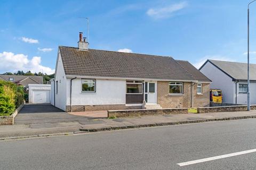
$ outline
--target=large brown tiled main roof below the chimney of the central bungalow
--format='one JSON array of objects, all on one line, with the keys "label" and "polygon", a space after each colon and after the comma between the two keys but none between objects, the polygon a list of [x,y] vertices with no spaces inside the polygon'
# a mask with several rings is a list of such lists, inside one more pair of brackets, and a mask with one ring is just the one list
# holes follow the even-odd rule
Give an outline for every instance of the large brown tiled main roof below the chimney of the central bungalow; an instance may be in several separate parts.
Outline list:
[{"label": "large brown tiled main roof below the chimney of the central bungalow", "polygon": [[60,46],[66,75],[193,81],[172,57]]}]

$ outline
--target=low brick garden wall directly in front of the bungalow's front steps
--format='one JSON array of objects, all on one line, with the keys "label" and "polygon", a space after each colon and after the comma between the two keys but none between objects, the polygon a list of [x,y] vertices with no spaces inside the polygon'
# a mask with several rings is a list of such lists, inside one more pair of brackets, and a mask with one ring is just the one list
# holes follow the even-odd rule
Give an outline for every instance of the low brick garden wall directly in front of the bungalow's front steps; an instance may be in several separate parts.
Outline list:
[{"label": "low brick garden wall directly in front of the bungalow's front steps", "polygon": [[188,108],[167,108],[167,109],[133,109],[123,111],[108,111],[108,117],[134,117],[143,115],[167,115],[167,114],[187,114]]}]

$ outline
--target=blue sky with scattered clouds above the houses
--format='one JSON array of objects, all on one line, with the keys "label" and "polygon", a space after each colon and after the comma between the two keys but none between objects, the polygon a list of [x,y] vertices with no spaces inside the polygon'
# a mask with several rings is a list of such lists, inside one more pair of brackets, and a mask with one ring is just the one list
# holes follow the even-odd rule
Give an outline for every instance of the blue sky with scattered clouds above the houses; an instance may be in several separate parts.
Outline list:
[{"label": "blue sky with scattered clouds above the houses", "polygon": [[[247,1],[0,1],[0,73],[53,73],[59,45],[246,62]],[[251,62],[256,63],[256,3],[251,5]]]}]

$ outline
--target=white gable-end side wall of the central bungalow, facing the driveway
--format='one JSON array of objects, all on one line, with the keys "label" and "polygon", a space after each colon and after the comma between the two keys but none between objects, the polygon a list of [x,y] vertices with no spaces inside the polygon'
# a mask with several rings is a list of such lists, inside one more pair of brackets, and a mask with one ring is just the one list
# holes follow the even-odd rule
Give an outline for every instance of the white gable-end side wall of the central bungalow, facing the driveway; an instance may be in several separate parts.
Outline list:
[{"label": "white gable-end side wall of the central bungalow, facing the driveway", "polygon": [[[58,94],[56,93],[56,81],[58,81]],[[63,111],[66,111],[66,98],[67,98],[67,79],[65,76],[61,55],[59,54],[59,59],[57,63],[57,71],[55,74],[55,107],[58,107],[62,109]]]}]

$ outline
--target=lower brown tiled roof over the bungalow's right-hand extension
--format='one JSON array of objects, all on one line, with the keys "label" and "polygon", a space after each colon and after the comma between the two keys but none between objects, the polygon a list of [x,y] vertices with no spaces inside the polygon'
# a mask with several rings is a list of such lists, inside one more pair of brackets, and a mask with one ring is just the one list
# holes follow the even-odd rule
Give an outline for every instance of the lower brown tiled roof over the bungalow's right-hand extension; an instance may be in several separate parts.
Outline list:
[{"label": "lower brown tiled roof over the bungalow's right-hand extension", "polygon": [[202,81],[202,82],[211,81],[201,71],[197,70],[196,67],[190,64],[188,61],[183,61],[183,60],[176,60],[176,61],[183,67],[183,69],[185,69],[197,81]]}]

